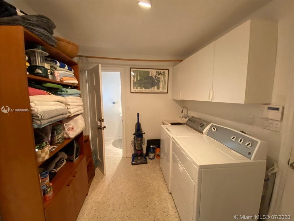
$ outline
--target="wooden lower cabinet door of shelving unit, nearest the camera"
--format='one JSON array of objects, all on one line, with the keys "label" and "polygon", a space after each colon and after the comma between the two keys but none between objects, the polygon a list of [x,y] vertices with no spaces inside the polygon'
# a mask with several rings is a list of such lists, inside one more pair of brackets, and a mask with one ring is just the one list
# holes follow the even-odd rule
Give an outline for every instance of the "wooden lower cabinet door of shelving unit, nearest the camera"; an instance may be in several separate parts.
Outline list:
[{"label": "wooden lower cabinet door of shelving unit, nearest the camera", "polygon": [[74,210],[74,188],[72,178],[67,181],[67,184],[54,196],[50,204],[46,207],[45,217],[46,221],[73,221],[77,219],[77,213]]}]

